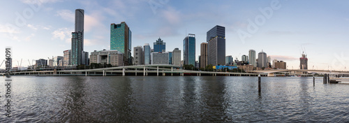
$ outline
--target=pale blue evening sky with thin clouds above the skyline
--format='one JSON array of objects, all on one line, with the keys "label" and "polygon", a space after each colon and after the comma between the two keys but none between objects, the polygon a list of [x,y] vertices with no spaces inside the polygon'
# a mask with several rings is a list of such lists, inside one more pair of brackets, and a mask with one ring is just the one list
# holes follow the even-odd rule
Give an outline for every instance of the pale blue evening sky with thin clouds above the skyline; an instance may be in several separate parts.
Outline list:
[{"label": "pale blue evening sky with thin clouds above the skyline", "polygon": [[[126,22],[132,48],[160,37],[166,51],[195,34],[200,43],[212,27],[225,27],[226,55],[241,60],[248,50],[299,68],[306,53],[309,69],[346,71],[349,67],[349,1],[265,0],[13,0],[1,1],[0,44],[13,50],[13,66],[63,56],[71,48],[75,9],[84,9],[84,51],[110,49],[110,24]],[[131,51],[133,52],[133,51]],[[258,56],[257,56],[258,57]],[[4,68],[4,65],[1,66]]]}]

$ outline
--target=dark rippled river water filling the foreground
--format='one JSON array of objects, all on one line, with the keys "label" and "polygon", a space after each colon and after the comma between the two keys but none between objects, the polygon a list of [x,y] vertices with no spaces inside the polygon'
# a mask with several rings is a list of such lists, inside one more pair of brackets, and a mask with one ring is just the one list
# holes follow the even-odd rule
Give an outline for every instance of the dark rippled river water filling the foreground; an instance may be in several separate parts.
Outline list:
[{"label": "dark rippled river water filling the foreground", "polygon": [[257,77],[13,77],[13,117],[0,109],[0,122],[349,122],[348,87],[262,78],[258,93]]}]

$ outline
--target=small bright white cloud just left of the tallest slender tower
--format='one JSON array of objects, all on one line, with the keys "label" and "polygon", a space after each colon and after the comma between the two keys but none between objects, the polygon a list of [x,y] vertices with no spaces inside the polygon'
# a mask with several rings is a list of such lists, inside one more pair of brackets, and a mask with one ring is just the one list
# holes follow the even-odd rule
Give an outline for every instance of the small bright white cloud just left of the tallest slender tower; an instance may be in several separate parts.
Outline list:
[{"label": "small bright white cloud just left of the tallest slender tower", "polygon": [[52,32],[52,39],[59,38],[61,41],[66,41],[66,43],[70,43],[71,40],[71,32],[73,29],[61,28]]}]

